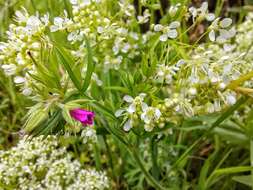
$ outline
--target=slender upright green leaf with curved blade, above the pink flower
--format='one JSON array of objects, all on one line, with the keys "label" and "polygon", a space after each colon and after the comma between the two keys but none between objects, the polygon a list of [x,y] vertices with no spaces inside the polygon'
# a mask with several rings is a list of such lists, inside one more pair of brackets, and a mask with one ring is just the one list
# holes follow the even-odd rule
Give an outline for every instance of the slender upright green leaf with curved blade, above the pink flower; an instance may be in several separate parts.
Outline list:
[{"label": "slender upright green leaf with curved blade, above the pink flower", "polygon": [[90,42],[86,37],[84,37],[84,39],[85,39],[85,43],[86,43],[86,47],[87,47],[87,62],[88,62],[88,64],[87,64],[84,83],[82,86],[82,92],[85,92],[87,90],[87,88],[89,87],[92,73],[94,72],[94,69],[95,69],[95,64],[93,63],[93,58],[92,58],[92,50],[90,47]]}]

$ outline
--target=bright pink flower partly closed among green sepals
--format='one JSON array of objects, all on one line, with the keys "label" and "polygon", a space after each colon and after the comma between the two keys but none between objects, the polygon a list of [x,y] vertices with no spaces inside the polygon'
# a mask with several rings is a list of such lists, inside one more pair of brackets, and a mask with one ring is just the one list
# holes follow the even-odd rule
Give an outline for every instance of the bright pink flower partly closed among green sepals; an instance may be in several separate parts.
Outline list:
[{"label": "bright pink flower partly closed among green sepals", "polygon": [[74,109],[70,111],[70,115],[80,121],[83,125],[92,125],[95,117],[95,113],[83,109]]}]

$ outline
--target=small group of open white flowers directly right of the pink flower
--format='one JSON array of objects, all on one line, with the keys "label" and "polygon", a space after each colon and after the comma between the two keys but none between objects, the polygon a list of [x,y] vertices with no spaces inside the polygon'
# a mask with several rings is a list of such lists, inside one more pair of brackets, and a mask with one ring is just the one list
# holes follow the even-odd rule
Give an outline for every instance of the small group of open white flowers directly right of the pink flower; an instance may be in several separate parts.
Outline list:
[{"label": "small group of open white flowers directly right of the pink flower", "polygon": [[152,131],[155,126],[164,127],[164,118],[161,117],[161,111],[157,107],[148,106],[144,102],[145,96],[145,93],[141,93],[135,98],[129,95],[124,96],[123,99],[129,106],[117,110],[115,116],[124,116],[125,124],[123,129],[125,131],[129,131],[132,127],[137,126],[139,121],[144,123],[146,131]]}]

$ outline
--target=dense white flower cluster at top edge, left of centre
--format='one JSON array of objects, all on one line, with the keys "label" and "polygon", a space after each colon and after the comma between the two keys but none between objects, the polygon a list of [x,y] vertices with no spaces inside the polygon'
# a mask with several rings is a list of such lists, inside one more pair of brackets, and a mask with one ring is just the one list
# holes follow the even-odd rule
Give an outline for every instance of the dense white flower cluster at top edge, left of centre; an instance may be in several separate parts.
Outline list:
[{"label": "dense white flower cluster at top edge, left of centre", "polygon": [[[73,55],[85,56],[85,36],[91,41],[93,51],[97,51],[100,55],[94,59],[104,63],[106,70],[110,68],[119,69],[124,58],[132,59],[139,55],[138,43],[141,35],[130,31],[121,18],[110,18],[104,12],[103,1],[70,2],[73,8],[73,19],[68,18],[65,13],[63,18],[54,18],[54,24],[50,26],[50,29],[51,32],[67,30],[68,41],[80,43],[79,48],[72,51]],[[119,5],[122,6],[121,3]],[[122,7],[121,11],[126,12],[124,9]],[[129,13],[129,16],[132,14]],[[138,17],[138,21],[145,23],[148,18],[149,12],[147,10],[143,16]]]}]

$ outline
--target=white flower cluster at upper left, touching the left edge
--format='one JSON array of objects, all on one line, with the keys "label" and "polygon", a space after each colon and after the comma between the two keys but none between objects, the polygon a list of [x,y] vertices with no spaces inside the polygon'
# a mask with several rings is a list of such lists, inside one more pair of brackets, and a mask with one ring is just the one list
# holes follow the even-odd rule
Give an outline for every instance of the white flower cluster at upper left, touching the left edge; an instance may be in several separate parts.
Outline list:
[{"label": "white flower cluster at upper left, touching the left edge", "polygon": [[39,59],[41,46],[48,41],[44,31],[49,24],[49,16],[29,16],[24,8],[16,11],[15,15],[17,24],[9,26],[7,42],[0,42],[1,67],[6,75],[15,75],[14,82],[23,85],[24,95],[30,95],[27,71],[35,72],[33,61]]}]

